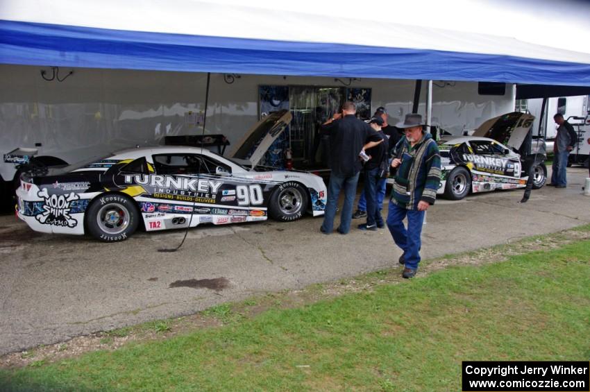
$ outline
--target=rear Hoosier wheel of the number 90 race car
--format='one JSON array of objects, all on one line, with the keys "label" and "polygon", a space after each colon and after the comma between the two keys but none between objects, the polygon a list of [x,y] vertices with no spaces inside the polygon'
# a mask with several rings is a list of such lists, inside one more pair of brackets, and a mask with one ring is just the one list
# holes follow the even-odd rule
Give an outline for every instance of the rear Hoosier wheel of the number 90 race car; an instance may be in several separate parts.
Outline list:
[{"label": "rear Hoosier wheel of the number 90 race car", "polygon": [[127,196],[103,194],[92,201],[84,219],[92,237],[117,242],[128,239],[137,230],[140,212],[135,201]]}]

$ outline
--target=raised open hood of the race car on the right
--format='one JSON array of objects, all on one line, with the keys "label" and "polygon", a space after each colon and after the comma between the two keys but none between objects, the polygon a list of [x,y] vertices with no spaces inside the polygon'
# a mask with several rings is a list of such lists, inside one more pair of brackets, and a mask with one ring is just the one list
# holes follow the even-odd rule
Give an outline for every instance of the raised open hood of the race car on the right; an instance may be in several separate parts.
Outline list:
[{"label": "raised open hood of the race car on the right", "polygon": [[532,126],[534,116],[521,112],[502,114],[482,123],[473,136],[489,137],[518,150]]}]

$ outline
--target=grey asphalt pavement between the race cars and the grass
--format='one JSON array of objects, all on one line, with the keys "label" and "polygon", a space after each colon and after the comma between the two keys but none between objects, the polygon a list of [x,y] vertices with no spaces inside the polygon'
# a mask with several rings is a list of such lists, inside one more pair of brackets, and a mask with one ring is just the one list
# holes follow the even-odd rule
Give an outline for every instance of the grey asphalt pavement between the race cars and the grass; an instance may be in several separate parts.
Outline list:
[{"label": "grey asphalt pavement between the race cars and the grass", "polygon": [[[439,200],[426,216],[423,258],[590,223],[587,176],[587,169],[568,168],[566,189],[543,187],[524,204],[521,189]],[[203,226],[168,253],[160,250],[178,246],[184,230],[103,244],[33,232],[12,214],[0,216],[0,355],[398,267],[401,251],[387,229],[357,230],[364,220],[355,219],[348,235],[322,235],[321,221]]]}]

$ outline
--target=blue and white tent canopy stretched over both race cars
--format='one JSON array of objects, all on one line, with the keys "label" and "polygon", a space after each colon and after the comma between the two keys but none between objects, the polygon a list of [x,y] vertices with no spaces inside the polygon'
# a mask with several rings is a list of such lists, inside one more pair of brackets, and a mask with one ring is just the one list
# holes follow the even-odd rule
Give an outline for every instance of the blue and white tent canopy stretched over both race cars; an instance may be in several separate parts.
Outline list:
[{"label": "blue and white tent canopy stretched over both race cars", "polygon": [[192,0],[2,0],[0,63],[590,86],[588,53]]}]

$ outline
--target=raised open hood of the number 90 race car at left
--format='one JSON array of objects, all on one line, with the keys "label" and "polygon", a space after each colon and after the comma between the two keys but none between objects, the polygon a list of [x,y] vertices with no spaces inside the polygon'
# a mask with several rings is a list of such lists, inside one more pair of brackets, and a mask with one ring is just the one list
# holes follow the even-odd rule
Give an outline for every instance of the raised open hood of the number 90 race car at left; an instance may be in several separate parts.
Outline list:
[{"label": "raised open hood of the number 90 race car at left", "polygon": [[292,115],[289,110],[272,112],[246,132],[242,140],[235,144],[236,148],[230,151],[229,156],[249,161],[254,169],[271,144],[291,123],[291,119]]}]

